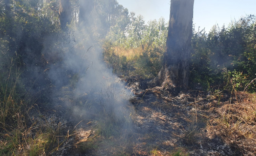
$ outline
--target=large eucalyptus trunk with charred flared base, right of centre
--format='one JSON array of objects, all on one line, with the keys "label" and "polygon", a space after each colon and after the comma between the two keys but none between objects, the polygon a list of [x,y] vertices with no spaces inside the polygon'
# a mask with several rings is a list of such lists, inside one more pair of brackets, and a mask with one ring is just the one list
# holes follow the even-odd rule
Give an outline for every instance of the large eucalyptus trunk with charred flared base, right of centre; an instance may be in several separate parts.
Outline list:
[{"label": "large eucalyptus trunk with charred flared base, right of centre", "polygon": [[171,0],[163,67],[153,80],[157,86],[186,89],[189,76],[194,0]]}]

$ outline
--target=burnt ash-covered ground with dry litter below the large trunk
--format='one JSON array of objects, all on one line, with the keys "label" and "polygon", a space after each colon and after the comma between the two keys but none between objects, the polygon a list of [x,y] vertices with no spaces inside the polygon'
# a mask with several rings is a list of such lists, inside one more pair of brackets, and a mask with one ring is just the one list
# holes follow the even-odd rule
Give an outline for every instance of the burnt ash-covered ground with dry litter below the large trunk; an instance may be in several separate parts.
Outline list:
[{"label": "burnt ash-covered ground with dry litter below the large trunk", "polygon": [[255,97],[244,94],[239,103],[240,92],[211,96],[214,93],[203,92],[200,85],[172,96],[163,88],[146,89],[139,77],[121,79],[135,94],[127,106],[134,110],[131,130],[100,135],[94,117],[76,120],[67,115],[67,108],[57,106],[43,112],[45,121],[58,130],[59,148],[50,155],[256,155]]}]

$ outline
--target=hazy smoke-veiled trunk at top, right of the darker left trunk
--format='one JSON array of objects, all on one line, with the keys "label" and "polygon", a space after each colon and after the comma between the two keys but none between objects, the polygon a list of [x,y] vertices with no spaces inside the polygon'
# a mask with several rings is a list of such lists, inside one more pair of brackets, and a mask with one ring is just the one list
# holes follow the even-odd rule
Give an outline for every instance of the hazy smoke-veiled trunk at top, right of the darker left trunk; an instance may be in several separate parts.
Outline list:
[{"label": "hazy smoke-veiled trunk at top, right of the darker left trunk", "polygon": [[93,25],[92,11],[94,3],[95,0],[79,0],[78,26],[80,28],[88,28]]}]

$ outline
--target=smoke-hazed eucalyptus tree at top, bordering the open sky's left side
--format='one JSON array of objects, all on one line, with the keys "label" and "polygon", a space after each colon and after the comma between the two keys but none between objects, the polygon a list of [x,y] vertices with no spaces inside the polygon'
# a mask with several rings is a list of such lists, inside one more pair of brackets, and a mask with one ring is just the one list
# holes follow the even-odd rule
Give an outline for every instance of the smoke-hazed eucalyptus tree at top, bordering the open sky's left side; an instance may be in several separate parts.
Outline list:
[{"label": "smoke-hazed eucalyptus tree at top, bordering the open sky's left side", "polygon": [[79,6],[79,27],[100,38],[106,36],[120,17],[128,18],[129,13],[117,0],[79,0]]}]

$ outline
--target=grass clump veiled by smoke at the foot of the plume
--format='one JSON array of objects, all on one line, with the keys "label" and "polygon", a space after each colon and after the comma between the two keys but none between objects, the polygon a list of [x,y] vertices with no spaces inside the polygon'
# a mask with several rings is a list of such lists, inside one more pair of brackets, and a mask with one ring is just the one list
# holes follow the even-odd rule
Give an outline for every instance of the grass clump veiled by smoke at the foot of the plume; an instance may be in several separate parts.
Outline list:
[{"label": "grass clump veiled by smoke at the foot of the plume", "polygon": [[100,118],[95,129],[97,133],[104,136],[127,135],[132,128],[131,113],[129,107],[129,93],[121,90],[119,84],[111,83],[104,85],[101,91],[100,99]]}]

